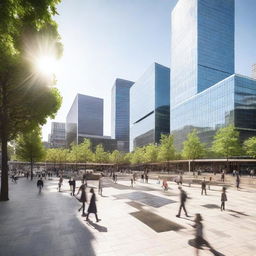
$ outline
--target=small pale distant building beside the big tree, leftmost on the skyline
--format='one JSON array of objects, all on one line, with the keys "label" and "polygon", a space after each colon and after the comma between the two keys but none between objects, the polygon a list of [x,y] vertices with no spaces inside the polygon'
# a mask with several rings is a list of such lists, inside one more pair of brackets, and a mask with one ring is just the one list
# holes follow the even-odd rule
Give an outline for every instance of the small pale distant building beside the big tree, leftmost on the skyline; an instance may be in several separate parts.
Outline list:
[{"label": "small pale distant building beside the big tree, leftmost on the skyline", "polygon": [[49,134],[48,142],[50,148],[62,148],[66,146],[65,123],[52,122],[51,134]]}]

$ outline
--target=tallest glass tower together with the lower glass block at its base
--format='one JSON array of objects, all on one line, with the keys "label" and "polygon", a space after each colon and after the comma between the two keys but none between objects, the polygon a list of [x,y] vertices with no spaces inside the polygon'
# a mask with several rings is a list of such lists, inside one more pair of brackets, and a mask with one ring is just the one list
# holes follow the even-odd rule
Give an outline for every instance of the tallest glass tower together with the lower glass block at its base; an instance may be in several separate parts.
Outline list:
[{"label": "tallest glass tower together with the lower glass block at its base", "polygon": [[172,12],[171,122],[179,149],[198,131],[210,145],[234,125],[256,135],[256,81],[234,74],[234,0],[179,0]]}]

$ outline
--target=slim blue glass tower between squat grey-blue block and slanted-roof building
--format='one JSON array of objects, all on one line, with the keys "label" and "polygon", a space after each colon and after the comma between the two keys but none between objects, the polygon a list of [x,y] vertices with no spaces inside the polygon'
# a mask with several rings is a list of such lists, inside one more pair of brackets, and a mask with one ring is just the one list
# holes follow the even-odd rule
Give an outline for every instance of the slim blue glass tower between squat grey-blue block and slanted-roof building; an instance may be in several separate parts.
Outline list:
[{"label": "slim blue glass tower between squat grey-blue block and slanted-roof building", "polygon": [[116,79],[111,91],[111,137],[120,151],[129,152],[130,88],[134,82]]}]

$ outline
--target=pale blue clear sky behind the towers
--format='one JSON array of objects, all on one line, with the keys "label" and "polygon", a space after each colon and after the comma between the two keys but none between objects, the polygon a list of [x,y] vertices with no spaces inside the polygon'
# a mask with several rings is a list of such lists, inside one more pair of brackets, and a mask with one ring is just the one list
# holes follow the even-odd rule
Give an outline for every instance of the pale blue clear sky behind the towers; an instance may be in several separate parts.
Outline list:
[{"label": "pale blue clear sky behind the towers", "polygon": [[[171,11],[177,0],[63,0],[58,6],[64,54],[57,73],[65,122],[77,93],[104,99],[104,134],[110,135],[114,80],[136,81],[153,62],[170,66]],[[256,0],[236,0],[236,73],[256,63]],[[50,133],[50,120],[43,138]]]}]

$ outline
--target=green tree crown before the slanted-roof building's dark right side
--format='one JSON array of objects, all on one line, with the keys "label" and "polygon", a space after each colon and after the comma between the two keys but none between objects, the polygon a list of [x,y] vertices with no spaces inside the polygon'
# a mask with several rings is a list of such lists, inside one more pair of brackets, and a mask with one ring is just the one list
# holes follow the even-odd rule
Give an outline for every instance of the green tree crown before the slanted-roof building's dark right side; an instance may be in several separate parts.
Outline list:
[{"label": "green tree crown before the slanted-roof building's dark right side", "polygon": [[161,135],[160,146],[158,147],[158,160],[170,161],[176,158],[173,145],[173,135]]}]

